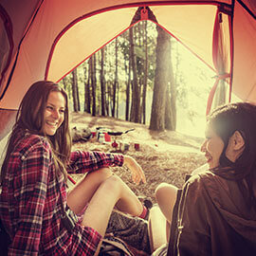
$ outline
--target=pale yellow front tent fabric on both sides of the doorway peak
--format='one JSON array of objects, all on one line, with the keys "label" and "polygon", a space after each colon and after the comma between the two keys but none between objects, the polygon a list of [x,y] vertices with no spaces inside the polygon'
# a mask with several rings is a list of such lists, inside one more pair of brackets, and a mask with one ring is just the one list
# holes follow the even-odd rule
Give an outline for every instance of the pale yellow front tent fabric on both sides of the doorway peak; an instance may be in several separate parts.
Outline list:
[{"label": "pale yellow front tent fabric on both sides of the doorway peak", "polygon": [[[92,52],[98,50],[101,46],[109,42],[115,36],[119,35],[124,29],[129,27],[131,18],[135,14],[137,8],[110,10],[82,20],[75,26],[68,29],[62,36],[54,48],[54,54],[51,58],[47,79],[59,81],[63,74],[66,74],[76,64],[84,61],[84,56],[89,56]],[[184,45],[188,46],[206,63],[213,68],[211,58],[212,43],[212,21],[214,21],[216,8],[203,6],[162,6],[151,7],[153,13],[156,14],[158,24],[171,31],[175,27],[174,36],[178,38]],[[202,23],[198,18],[198,13],[203,12],[203,18],[207,20]],[[168,15],[173,13],[173,15]],[[161,19],[165,17],[165,19]],[[166,20],[168,17],[168,20]],[[186,19],[185,19],[186,17]],[[102,24],[107,24],[99,30]],[[202,33],[201,31],[205,31]],[[79,35],[79,36],[78,36]],[[87,40],[90,35],[90,41]],[[91,41],[94,44],[91,44]],[[200,43],[199,43],[200,42]],[[76,46],[76,47],[69,47]],[[80,49],[79,51],[77,49]],[[75,56],[75,58],[74,58]],[[66,59],[73,59],[73,64],[66,65],[65,70],[60,68]]]}]

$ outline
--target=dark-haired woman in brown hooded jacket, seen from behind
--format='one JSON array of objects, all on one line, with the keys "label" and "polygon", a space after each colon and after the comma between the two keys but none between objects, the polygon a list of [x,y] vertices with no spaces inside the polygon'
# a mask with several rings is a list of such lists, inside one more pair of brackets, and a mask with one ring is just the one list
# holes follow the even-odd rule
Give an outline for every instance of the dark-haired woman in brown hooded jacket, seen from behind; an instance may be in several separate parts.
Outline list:
[{"label": "dark-haired woman in brown hooded jacket, seen from behind", "polygon": [[173,218],[168,255],[256,255],[256,105],[214,110],[201,151],[208,171],[180,192],[168,184],[155,190],[169,226]]}]

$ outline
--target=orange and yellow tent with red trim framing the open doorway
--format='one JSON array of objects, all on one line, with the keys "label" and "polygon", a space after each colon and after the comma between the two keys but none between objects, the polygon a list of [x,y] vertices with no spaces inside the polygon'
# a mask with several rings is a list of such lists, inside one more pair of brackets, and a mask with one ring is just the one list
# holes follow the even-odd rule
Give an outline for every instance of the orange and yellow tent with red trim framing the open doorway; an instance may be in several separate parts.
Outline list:
[{"label": "orange and yellow tent with red trim framing the open doorway", "polygon": [[221,80],[243,101],[256,101],[254,0],[1,0],[0,141],[32,82],[60,81],[152,13],[215,71],[209,108]]}]

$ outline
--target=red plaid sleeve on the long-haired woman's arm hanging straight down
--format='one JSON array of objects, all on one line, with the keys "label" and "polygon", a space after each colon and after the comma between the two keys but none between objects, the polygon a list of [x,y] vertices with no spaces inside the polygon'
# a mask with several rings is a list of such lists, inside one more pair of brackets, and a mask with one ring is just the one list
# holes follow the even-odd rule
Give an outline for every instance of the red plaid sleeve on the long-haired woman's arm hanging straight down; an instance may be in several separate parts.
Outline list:
[{"label": "red plaid sleeve on the long-haired woman's arm hanging straight down", "polygon": [[32,147],[21,156],[21,170],[14,177],[14,198],[19,214],[10,255],[38,255],[46,203],[50,150],[47,144]]}]

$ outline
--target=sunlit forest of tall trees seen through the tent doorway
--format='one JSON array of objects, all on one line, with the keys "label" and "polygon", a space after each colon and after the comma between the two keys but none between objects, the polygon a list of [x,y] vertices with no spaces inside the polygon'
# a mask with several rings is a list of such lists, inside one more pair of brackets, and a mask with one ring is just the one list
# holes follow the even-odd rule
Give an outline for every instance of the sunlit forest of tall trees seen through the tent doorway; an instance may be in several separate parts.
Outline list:
[{"label": "sunlit forest of tall trees seen through the tent doorway", "polygon": [[[143,123],[155,131],[176,131],[186,121],[196,127],[205,119],[214,72],[162,27],[140,21],[60,83],[74,112]],[[214,106],[226,102],[226,86],[218,87]]]}]

